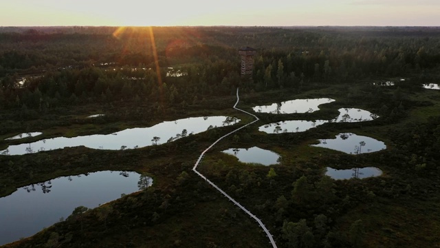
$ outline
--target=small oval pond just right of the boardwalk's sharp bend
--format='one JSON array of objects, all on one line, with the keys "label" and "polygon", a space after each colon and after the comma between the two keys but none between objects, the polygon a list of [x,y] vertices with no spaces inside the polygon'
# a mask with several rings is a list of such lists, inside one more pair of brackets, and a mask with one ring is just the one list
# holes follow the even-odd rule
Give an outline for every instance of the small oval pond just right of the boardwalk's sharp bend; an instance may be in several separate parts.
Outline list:
[{"label": "small oval pond just right of the boardwalk's sharp bend", "polygon": [[275,152],[259,147],[232,148],[223,152],[236,156],[243,163],[259,163],[261,165],[274,165],[278,163],[280,157]]}]

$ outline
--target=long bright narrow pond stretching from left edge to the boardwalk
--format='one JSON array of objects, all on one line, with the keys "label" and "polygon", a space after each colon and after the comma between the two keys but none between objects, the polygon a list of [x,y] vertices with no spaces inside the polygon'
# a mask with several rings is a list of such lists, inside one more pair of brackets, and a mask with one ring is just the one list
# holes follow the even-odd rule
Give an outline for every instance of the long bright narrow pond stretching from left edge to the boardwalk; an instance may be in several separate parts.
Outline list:
[{"label": "long bright narrow pond stretching from left edge to the boardwalk", "polygon": [[132,149],[175,141],[213,127],[233,125],[240,120],[228,116],[205,116],[164,121],[153,127],[136,127],[113,134],[94,134],[73,138],[47,138],[34,143],[10,145],[0,151],[3,155],[22,155],[64,147],[84,145],[93,149]]}]

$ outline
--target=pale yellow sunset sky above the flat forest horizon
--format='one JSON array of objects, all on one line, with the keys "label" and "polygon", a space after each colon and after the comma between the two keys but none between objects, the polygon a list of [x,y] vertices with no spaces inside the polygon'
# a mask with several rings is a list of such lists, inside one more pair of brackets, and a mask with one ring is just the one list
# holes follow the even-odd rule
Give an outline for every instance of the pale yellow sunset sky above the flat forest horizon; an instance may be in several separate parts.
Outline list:
[{"label": "pale yellow sunset sky above the flat forest horizon", "polygon": [[440,0],[0,0],[0,26],[440,26]]}]

